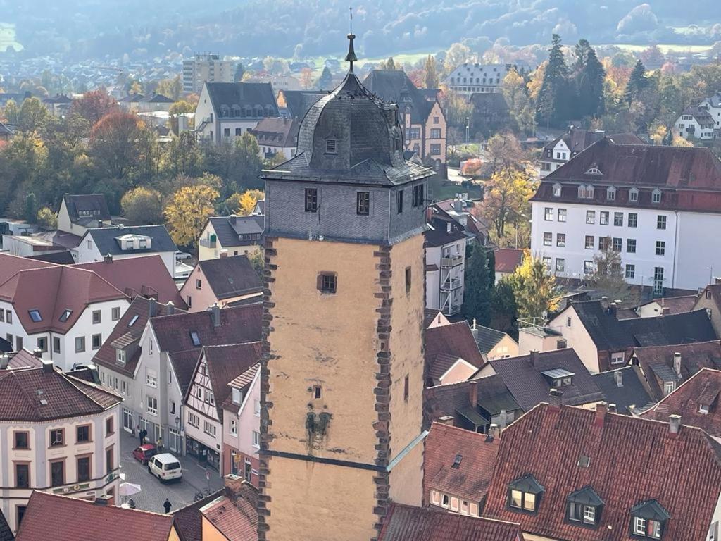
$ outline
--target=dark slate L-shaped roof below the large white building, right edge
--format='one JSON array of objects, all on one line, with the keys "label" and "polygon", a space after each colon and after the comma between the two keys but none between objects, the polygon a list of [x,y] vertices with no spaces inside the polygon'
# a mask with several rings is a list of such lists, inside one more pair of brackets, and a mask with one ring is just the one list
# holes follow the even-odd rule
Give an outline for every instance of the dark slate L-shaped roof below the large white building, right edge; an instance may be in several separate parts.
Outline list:
[{"label": "dark slate L-shaped roof below the large white building, right edge", "polygon": [[670,346],[717,339],[711,320],[703,309],[666,316],[619,320],[603,308],[601,301],[576,302],[572,307],[599,351]]}]

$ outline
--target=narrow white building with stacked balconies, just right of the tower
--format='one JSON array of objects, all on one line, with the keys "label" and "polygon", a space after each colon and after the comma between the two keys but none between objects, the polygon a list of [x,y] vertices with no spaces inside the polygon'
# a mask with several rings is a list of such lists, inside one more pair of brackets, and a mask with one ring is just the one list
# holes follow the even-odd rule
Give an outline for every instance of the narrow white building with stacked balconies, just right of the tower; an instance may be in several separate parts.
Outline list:
[{"label": "narrow white building with stacked balconies, just right of the tower", "polygon": [[454,315],[463,307],[466,228],[438,207],[428,209],[425,237],[425,307]]}]

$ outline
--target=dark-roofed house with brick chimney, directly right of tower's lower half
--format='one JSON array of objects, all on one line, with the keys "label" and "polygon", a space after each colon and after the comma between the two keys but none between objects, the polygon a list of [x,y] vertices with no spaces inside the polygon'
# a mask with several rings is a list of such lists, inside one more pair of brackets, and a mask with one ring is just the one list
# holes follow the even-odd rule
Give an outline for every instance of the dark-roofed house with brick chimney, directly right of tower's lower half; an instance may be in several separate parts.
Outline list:
[{"label": "dark-roofed house with brick chimney, directly right of tower's lower half", "polygon": [[498,375],[428,387],[423,392],[425,426],[433,421],[452,422],[464,430],[488,434],[492,424],[503,429],[522,414]]}]

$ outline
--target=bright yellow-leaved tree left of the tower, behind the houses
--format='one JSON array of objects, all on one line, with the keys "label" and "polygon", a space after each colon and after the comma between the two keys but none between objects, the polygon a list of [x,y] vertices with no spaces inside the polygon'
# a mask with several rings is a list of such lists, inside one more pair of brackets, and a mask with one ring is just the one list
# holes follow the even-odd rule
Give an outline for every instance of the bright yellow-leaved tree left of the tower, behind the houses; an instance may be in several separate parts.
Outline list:
[{"label": "bright yellow-leaved tree left of the tower, behind the houses", "polygon": [[195,245],[205,222],[213,216],[213,203],[219,195],[205,184],[185,186],[172,195],[163,214],[175,244]]}]

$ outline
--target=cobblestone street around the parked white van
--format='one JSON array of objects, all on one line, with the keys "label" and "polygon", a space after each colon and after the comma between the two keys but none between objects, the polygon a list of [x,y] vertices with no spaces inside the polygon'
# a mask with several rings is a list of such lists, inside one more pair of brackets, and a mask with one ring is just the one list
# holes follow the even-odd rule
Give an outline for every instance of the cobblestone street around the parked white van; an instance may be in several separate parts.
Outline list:
[{"label": "cobblestone street around the parked white van", "polygon": [[[133,449],[138,443],[138,438],[125,431],[120,433],[120,475],[124,475],[128,483],[141,485],[143,488],[140,493],[131,496],[137,509],[162,513],[163,502],[168,498],[172,505],[171,512],[177,511],[188,503],[193,503],[195,493],[203,491],[205,494],[208,487],[211,491],[216,491],[223,486],[218,472],[199,465],[193,457],[181,457],[177,454],[175,456],[182,465],[182,479],[161,483],[150,475],[146,466],[133,458]],[[206,472],[210,474],[209,480],[205,477]],[[125,499],[127,498],[121,497],[119,503],[123,503]]]}]

